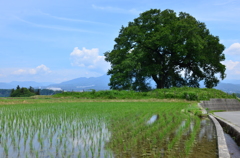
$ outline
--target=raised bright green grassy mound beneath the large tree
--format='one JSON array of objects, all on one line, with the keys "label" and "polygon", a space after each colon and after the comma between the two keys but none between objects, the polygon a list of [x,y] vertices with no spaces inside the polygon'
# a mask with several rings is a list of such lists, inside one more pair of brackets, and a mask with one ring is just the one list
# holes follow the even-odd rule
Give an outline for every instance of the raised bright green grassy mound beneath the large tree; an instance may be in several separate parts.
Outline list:
[{"label": "raised bright green grassy mound beneath the large tree", "polygon": [[53,97],[74,97],[83,99],[186,99],[189,101],[209,100],[210,98],[235,98],[217,89],[172,87],[168,89],[155,89],[149,92],[136,92],[125,90],[105,90],[90,92],[63,92]]}]

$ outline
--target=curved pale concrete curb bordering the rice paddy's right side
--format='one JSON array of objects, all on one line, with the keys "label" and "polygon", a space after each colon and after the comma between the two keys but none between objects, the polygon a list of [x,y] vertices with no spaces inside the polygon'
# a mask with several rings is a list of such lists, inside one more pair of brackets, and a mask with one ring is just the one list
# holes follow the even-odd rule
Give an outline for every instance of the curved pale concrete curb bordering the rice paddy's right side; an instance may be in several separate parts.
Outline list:
[{"label": "curved pale concrete curb bordering the rice paddy's right side", "polygon": [[222,129],[220,123],[214,118],[214,116],[208,115],[208,117],[213,121],[213,123],[216,127],[217,142],[218,142],[218,157],[219,158],[231,158],[229,151],[228,151],[225,136],[223,133],[223,129]]}]

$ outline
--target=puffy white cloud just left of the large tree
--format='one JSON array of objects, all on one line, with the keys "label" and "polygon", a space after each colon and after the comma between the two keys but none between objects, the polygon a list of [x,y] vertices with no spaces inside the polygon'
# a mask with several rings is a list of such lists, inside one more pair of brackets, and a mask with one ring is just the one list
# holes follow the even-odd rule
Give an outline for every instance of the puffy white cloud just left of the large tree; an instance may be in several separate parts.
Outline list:
[{"label": "puffy white cloud just left of the large tree", "polygon": [[83,47],[80,50],[78,47],[75,47],[70,54],[71,64],[73,66],[107,72],[110,64],[105,61],[104,56],[100,56],[98,53],[98,48],[86,49]]}]

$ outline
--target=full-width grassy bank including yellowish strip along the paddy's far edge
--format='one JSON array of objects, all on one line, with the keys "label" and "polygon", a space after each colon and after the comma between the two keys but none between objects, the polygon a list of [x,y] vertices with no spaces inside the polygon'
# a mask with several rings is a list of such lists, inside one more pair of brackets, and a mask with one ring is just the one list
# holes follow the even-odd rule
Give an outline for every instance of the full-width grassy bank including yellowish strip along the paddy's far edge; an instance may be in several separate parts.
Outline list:
[{"label": "full-width grassy bank including yellowish strip along the paddy's far edge", "polygon": [[149,92],[135,92],[135,91],[85,91],[85,92],[64,92],[52,96],[37,95],[32,97],[7,97],[0,98],[0,104],[15,104],[15,103],[39,103],[39,102],[101,102],[101,101],[200,101],[209,100],[210,98],[235,98],[234,94],[227,94],[217,89],[207,88],[169,88],[169,89],[155,89]]}]

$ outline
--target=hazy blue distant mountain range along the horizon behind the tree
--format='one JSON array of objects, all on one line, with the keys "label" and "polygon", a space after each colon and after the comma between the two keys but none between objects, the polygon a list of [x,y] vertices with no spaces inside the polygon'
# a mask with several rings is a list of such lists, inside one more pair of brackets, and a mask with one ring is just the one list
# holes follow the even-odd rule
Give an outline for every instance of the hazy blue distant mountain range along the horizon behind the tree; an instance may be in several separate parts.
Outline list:
[{"label": "hazy blue distant mountain range along the horizon behind the tree", "polygon": [[[80,77],[73,80],[65,81],[62,83],[54,84],[49,82],[33,82],[33,81],[25,81],[25,82],[17,82],[13,81],[10,83],[0,83],[0,89],[12,89],[16,88],[17,85],[20,87],[34,87],[41,89],[52,89],[52,90],[66,90],[66,91],[83,91],[83,90],[108,90],[110,87],[108,86],[110,76],[103,75],[100,77]],[[230,82],[230,83],[227,83]],[[155,83],[151,82],[153,88],[155,88]],[[201,83],[201,87],[203,87]],[[222,90],[227,93],[240,93],[240,80],[224,80],[220,82],[215,89]]]}]

